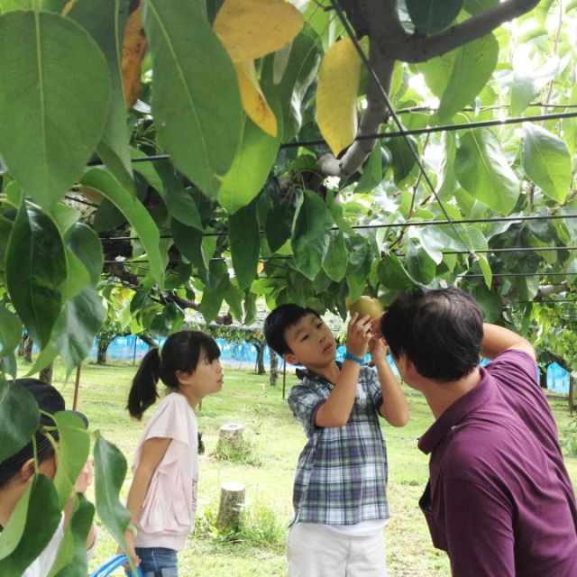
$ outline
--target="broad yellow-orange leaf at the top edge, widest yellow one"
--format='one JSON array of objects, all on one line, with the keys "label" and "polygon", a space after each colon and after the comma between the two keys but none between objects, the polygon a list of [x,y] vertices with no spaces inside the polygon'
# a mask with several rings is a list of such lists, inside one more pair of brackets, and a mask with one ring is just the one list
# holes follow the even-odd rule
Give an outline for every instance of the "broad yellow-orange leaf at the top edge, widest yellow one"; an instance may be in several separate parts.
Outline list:
[{"label": "broad yellow-orange leaf at the top edge, widest yellow one", "polygon": [[234,62],[275,52],[300,32],[303,15],[284,0],[224,0],[214,30]]}]

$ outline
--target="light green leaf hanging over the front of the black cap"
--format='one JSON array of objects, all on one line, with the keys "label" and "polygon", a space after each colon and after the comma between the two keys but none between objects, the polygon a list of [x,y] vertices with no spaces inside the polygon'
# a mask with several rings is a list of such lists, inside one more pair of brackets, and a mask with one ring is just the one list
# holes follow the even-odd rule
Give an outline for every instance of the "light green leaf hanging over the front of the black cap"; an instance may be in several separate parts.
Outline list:
[{"label": "light green leaf hanging over the front of the black cap", "polygon": [[58,492],[59,507],[69,502],[78,475],[87,462],[90,436],[84,421],[72,411],[59,411],[53,415],[59,432],[58,469],[54,487]]}]

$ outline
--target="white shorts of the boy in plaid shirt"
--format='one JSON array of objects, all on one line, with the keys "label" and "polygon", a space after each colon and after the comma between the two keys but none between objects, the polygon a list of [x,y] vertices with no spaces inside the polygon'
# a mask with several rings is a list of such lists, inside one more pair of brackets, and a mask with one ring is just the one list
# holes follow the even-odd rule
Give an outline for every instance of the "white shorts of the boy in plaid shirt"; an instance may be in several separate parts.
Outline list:
[{"label": "white shorts of the boy in plaid shirt", "polygon": [[287,544],[289,577],[385,577],[384,532],[347,536],[315,523],[295,523]]}]

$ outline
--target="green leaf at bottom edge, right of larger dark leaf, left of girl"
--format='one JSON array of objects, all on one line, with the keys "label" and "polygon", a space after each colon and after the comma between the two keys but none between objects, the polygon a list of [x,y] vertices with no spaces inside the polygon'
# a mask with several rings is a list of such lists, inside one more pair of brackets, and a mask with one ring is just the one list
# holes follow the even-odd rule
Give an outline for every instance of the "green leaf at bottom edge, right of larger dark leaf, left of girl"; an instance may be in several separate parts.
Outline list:
[{"label": "green leaf at bottom edge, right of larger dark leaf, left of girl", "polygon": [[94,505],[84,495],[78,494],[78,502],[56,561],[49,577],[84,577],[88,572],[87,537],[94,518]]}]

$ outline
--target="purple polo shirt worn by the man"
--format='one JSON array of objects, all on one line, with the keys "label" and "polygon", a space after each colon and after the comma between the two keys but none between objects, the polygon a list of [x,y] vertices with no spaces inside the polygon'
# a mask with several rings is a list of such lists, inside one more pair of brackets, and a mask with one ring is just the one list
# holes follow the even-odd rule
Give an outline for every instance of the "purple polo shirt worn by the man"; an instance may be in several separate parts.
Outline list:
[{"label": "purple polo shirt worn by the man", "polygon": [[419,501],[458,577],[577,576],[577,506],[535,361],[500,353],[418,443]]}]

